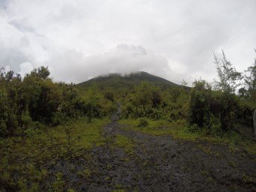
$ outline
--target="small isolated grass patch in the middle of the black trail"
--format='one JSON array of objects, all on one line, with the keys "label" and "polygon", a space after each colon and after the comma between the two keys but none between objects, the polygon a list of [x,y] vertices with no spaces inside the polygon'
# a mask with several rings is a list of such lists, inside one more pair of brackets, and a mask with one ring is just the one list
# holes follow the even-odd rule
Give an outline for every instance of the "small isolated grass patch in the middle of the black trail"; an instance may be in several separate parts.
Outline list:
[{"label": "small isolated grass patch in the middle of the black trail", "polygon": [[115,145],[124,148],[125,152],[128,154],[134,154],[134,141],[128,136],[121,134],[116,135]]}]

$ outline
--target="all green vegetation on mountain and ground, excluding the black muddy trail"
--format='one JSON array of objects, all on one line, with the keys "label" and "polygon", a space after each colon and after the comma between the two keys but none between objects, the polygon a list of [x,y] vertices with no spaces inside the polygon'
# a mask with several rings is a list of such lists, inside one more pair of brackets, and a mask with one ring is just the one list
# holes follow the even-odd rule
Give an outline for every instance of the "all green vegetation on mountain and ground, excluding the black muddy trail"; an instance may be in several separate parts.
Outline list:
[{"label": "all green vegetation on mountain and ground, excluding the black muddy trail", "polygon": [[[192,87],[186,83],[177,86],[146,73],[126,77],[114,74],[74,85],[54,82],[44,67],[24,78],[1,68],[1,187],[38,191],[48,181],[44,188],[49,191],[67,190],[63,172],[53,172],[50,167],[65,160],[89,160],[92,157],[88,151],[104,145],[106,139],[114,139],[115,147],[133,155],[136,141],[130,137],[101,136],[101,127],[110,122],[110,115],[117,109],[122,110],[118,112],[119,123],[128,125],[125,129],[190,142],[224,143],[230,151],[256,154],[254,137],[243,136],[238,130],[252,130],[256,63],[242,74],[223,52],[223,58],[215,57],[215,64],[218,80],[213,84],[195,80]],[[198,148],[211,153],[210,148]],[[86,179],[94,171],[85,166],[75,174]],[[207,172],[202,174],[212,179]],[[104,175],[104,179],[110,177]],[[250,182],[251,178],[244,175],[243,180]]]}]

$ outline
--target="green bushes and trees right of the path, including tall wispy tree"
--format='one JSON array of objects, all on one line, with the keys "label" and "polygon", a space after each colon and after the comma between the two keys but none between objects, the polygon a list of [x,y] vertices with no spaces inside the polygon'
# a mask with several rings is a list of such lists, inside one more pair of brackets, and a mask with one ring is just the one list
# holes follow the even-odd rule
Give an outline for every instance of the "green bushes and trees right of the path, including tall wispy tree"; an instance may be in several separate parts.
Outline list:
[{"label": "green bushes and trees right of the path, including tall wispy tree", "polygon": [[[185,120],[191,131],[221,136],[236,124],[253,127],[256,108],[256,59],[244,73],[236,71],[226,55],[214,55],[218,80],[195,80],[191,87],[161,90],[150,83],[128,95],[124,118]],[[143,121],[145,121],[143,119]]]}]

